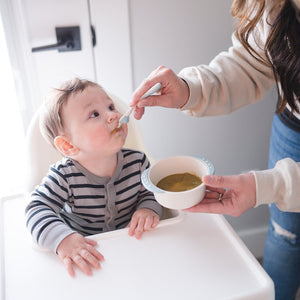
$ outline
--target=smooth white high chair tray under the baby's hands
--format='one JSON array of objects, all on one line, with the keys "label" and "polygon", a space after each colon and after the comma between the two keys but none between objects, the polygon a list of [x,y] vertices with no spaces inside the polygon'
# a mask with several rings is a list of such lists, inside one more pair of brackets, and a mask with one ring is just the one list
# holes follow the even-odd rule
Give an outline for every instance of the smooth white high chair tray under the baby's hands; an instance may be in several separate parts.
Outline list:
[{"label": "smooth white high chair tray under the baby's hands", "polygon": [[3,216],[6,300],[274,299],[273,282],[223,216],[175,211],[140,240],[127,229],[91,236],[105,261],[75,278],[55,254],[32,247],[24,199],[6,201]]}]

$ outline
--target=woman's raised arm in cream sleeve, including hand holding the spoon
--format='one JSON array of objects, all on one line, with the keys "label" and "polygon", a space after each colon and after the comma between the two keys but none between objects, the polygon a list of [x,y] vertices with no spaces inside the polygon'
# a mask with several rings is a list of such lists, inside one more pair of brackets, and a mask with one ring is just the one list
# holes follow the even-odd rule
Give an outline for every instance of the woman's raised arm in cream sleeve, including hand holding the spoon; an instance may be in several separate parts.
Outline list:
[{"label": "woman's raised arm in cream sleeve, including hand holding the spoon", "polygon": [[[268,32],[269,25],[264,20],[249,38],[262,58]],[[234,35],[232,43],[227,52],[217,55],[209,65],[185,68],[179,76],[163,66],[154,70],[133,94],[131,105],[137,105],[135,117],[140,119],[146,106],[180,108],[198,117],[221,115],[261,100],[275,84],[271,66],[255,59]],[[162,84],[160,94],[140,100],[157,82]]]}]

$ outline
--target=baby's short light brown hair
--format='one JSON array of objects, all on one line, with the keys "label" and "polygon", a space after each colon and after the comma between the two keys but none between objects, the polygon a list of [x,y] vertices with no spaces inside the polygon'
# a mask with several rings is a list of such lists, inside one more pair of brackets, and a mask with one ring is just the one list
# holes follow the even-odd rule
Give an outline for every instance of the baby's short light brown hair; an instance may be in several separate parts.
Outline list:
[{"label": "baby's short light brown hair", "polygon": [[[53,89],[40,110],[40,130],[43,137],[54,147],[55,137],[63,134],[63,120],[61,108],[68,101],[70,96],[84,91],[89,86],[99,86],[97,83],[74,78],[64,82],[59,88]],[[100,87],[100,86],[99,86]]]}]

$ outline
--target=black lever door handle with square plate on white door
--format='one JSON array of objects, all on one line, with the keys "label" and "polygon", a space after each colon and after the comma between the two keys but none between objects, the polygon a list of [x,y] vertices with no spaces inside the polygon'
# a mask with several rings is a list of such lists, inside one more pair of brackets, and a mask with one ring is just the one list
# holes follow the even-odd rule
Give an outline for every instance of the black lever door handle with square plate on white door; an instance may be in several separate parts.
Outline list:
[{"label": "black lever door handle with square plate on white door", "polygon": [[58,50],[58,52],[79,51],[81,50],[80,28],[73,27],[56,27],[57,43],[52,45],[32,48],[32,52]]}]

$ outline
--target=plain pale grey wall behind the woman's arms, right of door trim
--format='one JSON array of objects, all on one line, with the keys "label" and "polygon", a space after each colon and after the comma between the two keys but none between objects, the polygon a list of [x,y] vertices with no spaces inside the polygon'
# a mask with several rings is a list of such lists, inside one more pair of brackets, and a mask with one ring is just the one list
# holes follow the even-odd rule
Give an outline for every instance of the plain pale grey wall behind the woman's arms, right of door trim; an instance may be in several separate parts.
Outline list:
[{"label": "plain pale grey wall behind the woman's arms, right of door trim", "polygon": [[[231,0],[131,0],[134,87],[159,65],[178,72],[207,64],[231,45]],[[274,91],[258,104],[228,116],[192,118],[179,111],[149,108],[140,121],[146,147],[155,159],[202,155],[218,174],[267,167]],[[248,247],[262,255],[268,208],[227,218]],[[253,239],[254,238],[254,239]]]}]

